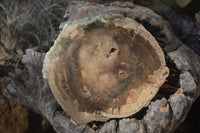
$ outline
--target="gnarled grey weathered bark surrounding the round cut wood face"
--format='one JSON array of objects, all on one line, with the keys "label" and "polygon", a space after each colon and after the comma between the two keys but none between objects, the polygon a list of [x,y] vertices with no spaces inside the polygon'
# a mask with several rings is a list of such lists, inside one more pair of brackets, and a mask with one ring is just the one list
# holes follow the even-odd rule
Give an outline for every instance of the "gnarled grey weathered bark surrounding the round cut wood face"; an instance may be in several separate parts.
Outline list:
[{"label": "gnarled grey weathered bark surrounding the round cut wood face", "polygon": [[[183,122],[193,102],[200,94],[199,56],[175,36],[168,22],[161,16],[148,8],[134,5],[130,2],[112,2],[106,4],[72,2],[66,10],[65,17],[68,20],[61,24],[61,27],[69,25],[78,19],[94,17],[100,14],[121,14],[143,25],[157,40],[165,53],[165,57],[170,58],[176,65],[179,71],[179,87],[182,91],[175,92],[169,97],[151,101],[144,111],[144,115],[140,118],[132,116],[131,118],[111,119],[102,124],[97,130],[94,130],[88,124],[74,125],[70,121],[70,117],[63,113],[59,104],[56,102],[49,88],[48,81],[42,78],[45,53],[39,53],[29,49],[22,57],[22,67],[16,67],[16,69],[10,68],[9,66],[0,67],[4,96],[42,114],[58,133],[173,132]],[[82,33],[82,31],[79,32]],[[110,34],[110,31],[108,34]],[[94,35],[92,34],[91,37]],[[108,57],[111,58],[114,57],[115,52],[119,53],[115,49],[110,49],[109,52],[111,54],[106,53],[106,55],[109,55]],[[88,61],[90,62],[93,59],[91,57]],[[116,62],[118,63],[118,61]],[[58,71],[60,71],[59,65],[57,67]],[[74,66],[71,68],[75,69],[77,67],[75,64]],[[82,66],[83,68],[88,69],[85,66]],[[2,76],[4,77],[2,78]],[[48,75],[46,76],[48,77]],[[88,76],[86,78],[90,77]],[[110,82],[113,83],[113,81]],[[89,93],[86,91],[86,94]]]}]

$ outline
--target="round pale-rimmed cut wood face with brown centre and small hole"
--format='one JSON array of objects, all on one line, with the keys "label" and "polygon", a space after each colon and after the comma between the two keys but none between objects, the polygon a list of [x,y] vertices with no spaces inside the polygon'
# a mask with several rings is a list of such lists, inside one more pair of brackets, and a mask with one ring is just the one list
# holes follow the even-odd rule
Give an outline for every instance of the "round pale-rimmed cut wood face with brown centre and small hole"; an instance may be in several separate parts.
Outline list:
[{"label": "round pale-rimmed cut wood face with brown centre and small hole", "polygon": [[168,73],[154,37],[122,16],[66,24],[43,66],[56,100],[77,123],[133,115],[149,104]]}]

